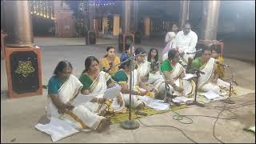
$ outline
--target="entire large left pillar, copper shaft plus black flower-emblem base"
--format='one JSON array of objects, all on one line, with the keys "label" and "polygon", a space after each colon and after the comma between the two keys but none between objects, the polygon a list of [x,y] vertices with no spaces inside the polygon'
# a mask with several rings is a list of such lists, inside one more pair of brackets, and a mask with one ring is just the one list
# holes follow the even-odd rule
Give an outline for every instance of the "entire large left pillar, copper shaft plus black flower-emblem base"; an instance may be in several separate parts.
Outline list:
[{"label": "entire large left pillar, copper shaft plus black flower-emblem base", "polygon": [[8,96],[42,95],[41,52],[38,46],[34,46],[29,3],[4,2],[8,34],[5,53]]}]

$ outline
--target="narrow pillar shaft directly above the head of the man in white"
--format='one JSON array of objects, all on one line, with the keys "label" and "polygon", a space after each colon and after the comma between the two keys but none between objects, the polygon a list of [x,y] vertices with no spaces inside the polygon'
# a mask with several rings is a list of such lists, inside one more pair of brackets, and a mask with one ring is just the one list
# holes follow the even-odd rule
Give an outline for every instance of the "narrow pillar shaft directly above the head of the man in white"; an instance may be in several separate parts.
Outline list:
[{"label": "narrow pillar shaft directly above the head of the man in white", "polygon": [[180,1],[179,26],[183,27],[186,20],[189,20],[189,3],[190,1]]}]

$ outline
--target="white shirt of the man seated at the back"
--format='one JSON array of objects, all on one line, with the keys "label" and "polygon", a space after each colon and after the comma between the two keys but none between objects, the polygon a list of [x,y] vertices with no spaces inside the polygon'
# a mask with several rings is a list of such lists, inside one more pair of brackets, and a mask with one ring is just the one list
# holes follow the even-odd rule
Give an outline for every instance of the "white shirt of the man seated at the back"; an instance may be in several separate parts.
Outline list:
[{"label": "white shirt of the man seated at the back", "polygon": [[172,48],[176,48],[178,46],[178,51],[180,53],[194,52],[197,42],[198,35],[195,34],[194,31],[190,30],[190,33],[186,35],[183,33],[183,31],[179,31],[175,37]]}]

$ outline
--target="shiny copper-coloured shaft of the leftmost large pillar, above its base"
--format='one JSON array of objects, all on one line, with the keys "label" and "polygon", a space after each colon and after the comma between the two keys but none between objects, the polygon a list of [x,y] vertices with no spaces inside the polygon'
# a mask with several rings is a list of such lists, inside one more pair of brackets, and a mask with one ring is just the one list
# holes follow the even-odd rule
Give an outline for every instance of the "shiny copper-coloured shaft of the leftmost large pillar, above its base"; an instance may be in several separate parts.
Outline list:
[{"label": "shiny copper-coloured shaft of the leftmost large pillar, above its base", "polygon": [[28,1],[5,1],[6,46],[33,46],[34,37]]}]

